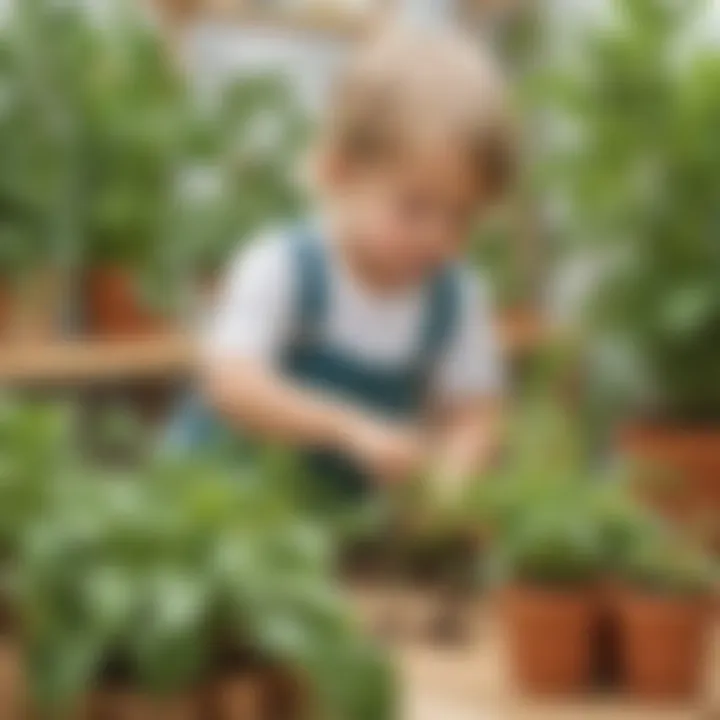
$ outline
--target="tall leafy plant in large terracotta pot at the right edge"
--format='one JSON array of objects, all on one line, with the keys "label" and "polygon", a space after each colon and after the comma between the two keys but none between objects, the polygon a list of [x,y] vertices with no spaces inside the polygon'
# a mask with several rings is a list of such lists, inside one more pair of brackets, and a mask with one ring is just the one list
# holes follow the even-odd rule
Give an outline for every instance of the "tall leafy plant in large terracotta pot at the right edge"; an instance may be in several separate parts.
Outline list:
[{"label": "tall leafy plant in large terracotta pot at the right edge", "polygon": [[665,509],[717,522],[720,55],[685,43],[699,12],[625,0],[594,32],[582,72],[561,83],[572,146],[558,175],[564,229],[597,269],[594,386],[632,417],[621,448],[677,475]]}]

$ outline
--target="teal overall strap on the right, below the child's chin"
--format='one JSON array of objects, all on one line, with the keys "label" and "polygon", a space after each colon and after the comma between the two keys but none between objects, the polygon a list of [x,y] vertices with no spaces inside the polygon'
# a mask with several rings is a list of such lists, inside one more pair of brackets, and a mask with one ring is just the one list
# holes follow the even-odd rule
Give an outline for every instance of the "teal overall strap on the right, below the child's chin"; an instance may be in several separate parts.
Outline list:
[{"label": "teal overall strap on the right, below the child's chin", "polygon": [[420,367],[432,371],[450,344],[459,322],[462,277],[459,268],[449,267],[433,280],[420,344]]}]

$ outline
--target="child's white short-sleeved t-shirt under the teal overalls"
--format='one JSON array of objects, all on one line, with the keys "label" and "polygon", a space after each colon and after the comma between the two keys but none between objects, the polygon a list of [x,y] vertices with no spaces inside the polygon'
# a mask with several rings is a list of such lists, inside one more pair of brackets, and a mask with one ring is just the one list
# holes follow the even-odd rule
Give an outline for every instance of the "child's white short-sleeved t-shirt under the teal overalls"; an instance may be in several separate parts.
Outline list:
[{"label": "child's white short-sleeved t-shirt under the teal overalls", "polygon": [[[361,287],[328,250],[328,308],[321,329],[326,340],[374,367],[407,365],[420,346],[427,288],[378,295]],[[296,336],[297,281],[290,244],[279,233],[243,248],[210,317],[208,357],[277,362]],[[492,311],[482,283],[470,274],[462,279],[455,322],[435,369],[433,395],[451,402],[499,394],[503,371]]]}]

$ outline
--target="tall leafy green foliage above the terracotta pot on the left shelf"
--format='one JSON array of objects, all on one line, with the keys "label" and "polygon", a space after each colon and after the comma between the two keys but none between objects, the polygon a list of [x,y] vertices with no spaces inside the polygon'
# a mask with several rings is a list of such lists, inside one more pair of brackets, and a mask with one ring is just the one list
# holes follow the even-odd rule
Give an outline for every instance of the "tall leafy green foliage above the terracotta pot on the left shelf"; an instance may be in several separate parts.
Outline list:
[{"label": "tall leafy green foliage above the terracotta pot on the left shelf", "polygon": [[19,84],[54,131],[64,240],[82,237],[91,262],[137,262],[157,236],[188,129],[182,79],[134,3],[12,7]]}]

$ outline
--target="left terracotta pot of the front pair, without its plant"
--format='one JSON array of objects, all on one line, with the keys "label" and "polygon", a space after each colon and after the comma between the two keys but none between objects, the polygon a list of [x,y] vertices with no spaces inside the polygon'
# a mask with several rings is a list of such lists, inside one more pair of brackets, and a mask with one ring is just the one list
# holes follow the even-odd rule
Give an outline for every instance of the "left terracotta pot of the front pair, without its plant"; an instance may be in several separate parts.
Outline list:
[{"label": "left terracotta pot of the front pair, without its plant", "polygon": [[589,688],[599,611],[596,593],[515,587],[502,601],[509,659],[519,688],[541,695]]}]

